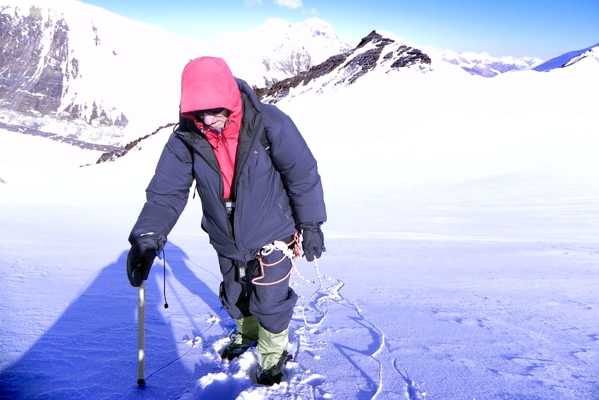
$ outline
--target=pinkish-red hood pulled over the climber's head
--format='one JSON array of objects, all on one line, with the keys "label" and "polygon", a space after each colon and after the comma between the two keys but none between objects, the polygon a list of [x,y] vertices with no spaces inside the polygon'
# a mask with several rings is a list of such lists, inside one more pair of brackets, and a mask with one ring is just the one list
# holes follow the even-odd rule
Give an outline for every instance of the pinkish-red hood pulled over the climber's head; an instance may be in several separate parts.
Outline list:
[{"label": "pinkish-red hood pulled over the climber's head", "polygon": [[181,113],[225,107],[241,113],[241,94],[225,60],[199,57],[181,75]]}]

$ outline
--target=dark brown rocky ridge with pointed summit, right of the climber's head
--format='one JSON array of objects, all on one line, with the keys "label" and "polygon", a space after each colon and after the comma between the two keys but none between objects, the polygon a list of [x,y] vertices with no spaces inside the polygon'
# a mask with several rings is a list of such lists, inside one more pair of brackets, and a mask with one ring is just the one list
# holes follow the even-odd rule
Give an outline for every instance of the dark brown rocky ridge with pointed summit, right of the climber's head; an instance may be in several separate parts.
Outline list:
[{"label": "dark brown rocky ridge with pointed summit, right of the climber's head", "polygon": [[431,58],[418,49],[372,31],[355,49],[332,56],[296,77],[257,89],[256,93],[262,101],[276,103],[291,92],[295,96],[307,90],[320,92],[329,85],[347,86],[375,69],[386,74],[400,69],[426,73],[432,71]]}]

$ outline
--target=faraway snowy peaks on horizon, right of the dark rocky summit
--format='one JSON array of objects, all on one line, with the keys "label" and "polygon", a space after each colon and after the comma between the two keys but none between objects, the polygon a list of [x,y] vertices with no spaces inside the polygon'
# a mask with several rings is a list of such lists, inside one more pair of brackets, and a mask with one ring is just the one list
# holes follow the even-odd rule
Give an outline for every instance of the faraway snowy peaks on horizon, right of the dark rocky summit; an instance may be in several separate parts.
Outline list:
[{"label": "faraway snowy peaks on horizon, right of the dark rocky summit", "polygon": [[472,75],[480,75],[485,78],[491,78],[508,71],[520,71],[541,61],[541,59],[533,57],[492,57],[488,53],[455,53],[451,50],[441,53],[441,59],[460,66]]}]

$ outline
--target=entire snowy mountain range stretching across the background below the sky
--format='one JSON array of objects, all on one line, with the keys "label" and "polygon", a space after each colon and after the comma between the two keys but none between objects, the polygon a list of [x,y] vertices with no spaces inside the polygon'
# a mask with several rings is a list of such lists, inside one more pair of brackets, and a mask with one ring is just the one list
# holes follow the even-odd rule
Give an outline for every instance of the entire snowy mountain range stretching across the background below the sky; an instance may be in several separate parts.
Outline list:
[{"label": "entire snowy mountain range stretching across the background below the sky", "polygon": [[[271,19],[244,34],[192,40],[75,0],[12,0],[2,7],[0,24],[0,128],[58,135],[88,149],[121,149],[176,120],[181,70],[201,55],[225,58],[268,102],[349,85],[375,69],[444,74],[444,65],[453,64],[493,77],[599,61],[599,44],[550,60],[422,50],[376,31],[353,46],[314,18]],[[223,50],[222,40],[239,50]]]}]

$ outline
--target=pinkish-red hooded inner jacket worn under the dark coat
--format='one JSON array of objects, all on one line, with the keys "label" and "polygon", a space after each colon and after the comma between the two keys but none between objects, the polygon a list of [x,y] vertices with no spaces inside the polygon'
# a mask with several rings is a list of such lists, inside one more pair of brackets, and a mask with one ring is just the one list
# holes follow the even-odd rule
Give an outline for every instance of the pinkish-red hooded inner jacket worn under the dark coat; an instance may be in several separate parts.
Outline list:
[{"label": "pinkish-red hooded inner jacket worn under the dark coat", "polygon": [[[241,94],[225,60],[199,57],[187,63],[181,75],[181,115],[193,120],[214,149],[223,177],[225,199],[234,193],[235,158],[241,129]],[[231,111],[225,128],[219,133],[204,125],[190,111],[224,107]]]}]

